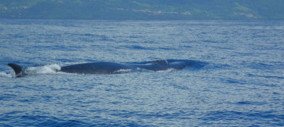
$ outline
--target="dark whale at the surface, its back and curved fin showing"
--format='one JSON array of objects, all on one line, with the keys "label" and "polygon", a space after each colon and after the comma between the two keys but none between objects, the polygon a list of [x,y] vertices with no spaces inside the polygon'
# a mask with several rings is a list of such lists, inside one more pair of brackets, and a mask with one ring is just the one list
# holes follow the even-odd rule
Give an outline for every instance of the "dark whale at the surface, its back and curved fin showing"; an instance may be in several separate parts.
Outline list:
[{"label": "dark whale at the surface, its back and curved fin showing", "polygon": [[[194,66],[196,61],[190,60],[157,60],[143,63],[114,63],[114,62],[92,62],[79,63],[69,66],[62,66],[58,72],[77,73],[77,74],[114,74],[121,70],[138,70],[146,69],[150,71],[164,71],[169,68],[182,69],[188,66]],[[8,63],[8,66],[13,68],[17,78],[28,75],[26,68],[19,66],[16,63]]]}]

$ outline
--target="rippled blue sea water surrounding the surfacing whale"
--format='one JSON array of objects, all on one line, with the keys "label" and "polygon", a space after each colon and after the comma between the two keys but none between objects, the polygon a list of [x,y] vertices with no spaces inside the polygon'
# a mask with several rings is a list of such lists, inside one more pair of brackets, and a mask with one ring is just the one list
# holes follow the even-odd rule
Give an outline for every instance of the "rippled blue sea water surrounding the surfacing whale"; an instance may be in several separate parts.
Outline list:
[{"label": "rippled blue sea water surrounding the surfacing whale", "polygon": [[[0,44],[0,126],[284,126],[283,20],[0,19]],[[53,71],[158,59],[201,66]]]}]

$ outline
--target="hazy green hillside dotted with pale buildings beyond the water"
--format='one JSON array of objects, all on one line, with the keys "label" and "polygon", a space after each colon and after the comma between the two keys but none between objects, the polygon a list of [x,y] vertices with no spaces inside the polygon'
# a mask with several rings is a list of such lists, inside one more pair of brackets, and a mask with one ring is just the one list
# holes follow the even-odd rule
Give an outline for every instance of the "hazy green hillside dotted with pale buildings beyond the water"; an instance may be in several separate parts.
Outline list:
[{"label": "hazy green hillside dotted with pale buildings beyond the water", "polygon": [[0,18],[284,19],[283,0],[1,0]]}]

